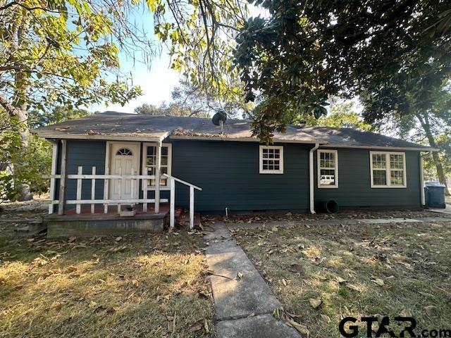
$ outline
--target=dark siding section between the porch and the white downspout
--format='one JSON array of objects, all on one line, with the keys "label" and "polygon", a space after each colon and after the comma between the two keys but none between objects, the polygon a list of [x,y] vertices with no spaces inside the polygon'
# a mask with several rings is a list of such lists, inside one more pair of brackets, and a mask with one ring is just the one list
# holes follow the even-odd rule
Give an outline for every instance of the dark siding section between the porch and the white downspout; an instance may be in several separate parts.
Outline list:
[{"label": "dark siding section between the porch and the white downspout", "polygon": [[[284,173],[259,174],[257,142],[172,141],[172,174],[202,187],[197,211],[298,210],[309,208],[308,145],[283,145]],[[177,184],[177,204],[188,206],[187,187]],[[162,194],[162,196],[164,196]]]}]

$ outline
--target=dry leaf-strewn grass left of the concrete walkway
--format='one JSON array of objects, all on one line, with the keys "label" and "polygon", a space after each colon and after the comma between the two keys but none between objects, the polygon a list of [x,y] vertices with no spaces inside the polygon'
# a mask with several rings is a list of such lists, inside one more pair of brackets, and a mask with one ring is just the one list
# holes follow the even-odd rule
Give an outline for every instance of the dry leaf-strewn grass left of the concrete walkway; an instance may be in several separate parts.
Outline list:
[{"label": "dry leaf-strewn grass left of the concrete walkway", "polygon": [[205,270],[186,232],[1,237],[0,337],[211,337]]}]

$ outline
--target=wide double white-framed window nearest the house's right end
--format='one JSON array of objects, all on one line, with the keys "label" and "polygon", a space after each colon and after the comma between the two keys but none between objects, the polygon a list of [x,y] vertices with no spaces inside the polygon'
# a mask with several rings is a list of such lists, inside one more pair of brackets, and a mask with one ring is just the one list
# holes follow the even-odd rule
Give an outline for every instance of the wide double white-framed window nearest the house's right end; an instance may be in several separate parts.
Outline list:
[{"label": "wide double white-framed window nearest the house's right end", "polygon": [[371,187],[407,187],[405,157],[405,153],[370,151]]}]

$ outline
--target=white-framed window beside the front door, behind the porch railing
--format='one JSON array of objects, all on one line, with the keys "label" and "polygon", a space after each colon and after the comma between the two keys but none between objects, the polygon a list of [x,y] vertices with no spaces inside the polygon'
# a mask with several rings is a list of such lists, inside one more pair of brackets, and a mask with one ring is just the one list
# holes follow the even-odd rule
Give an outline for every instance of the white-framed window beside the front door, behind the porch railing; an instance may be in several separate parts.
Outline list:
[{"label": "white-framed window beside the front door, behind the porch railing", "polygon": [[[143,174],[155,175],[156,173],[156,144],[144,144],[143,146]],[[171,144],[161,145],[161,175],[171,175],[172,163],[172,146]],[[147,189],[155,189],[155,180],[147,180]],[[166,177],[160,178],[160,189],[170,189],[169,182]]]}]

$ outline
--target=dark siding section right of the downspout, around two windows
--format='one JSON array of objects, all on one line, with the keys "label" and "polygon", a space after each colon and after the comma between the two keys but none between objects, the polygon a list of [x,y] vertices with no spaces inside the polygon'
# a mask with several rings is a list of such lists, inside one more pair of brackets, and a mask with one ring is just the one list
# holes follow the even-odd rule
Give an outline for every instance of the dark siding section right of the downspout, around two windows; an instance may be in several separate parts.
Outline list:
[{"label": "dark siding section right of the downspout, around two windows", "polygon": [[318,188],[318,162],[316,154],[314,156],[314,192],[316,202],[333,199],[338,202],[340,208],[374,206],[383,208],[421,207],[418,151],[405,151],[406,188],[371,188],[369,162],[371,149],[335,150],[338,151],[338,188]]}]

